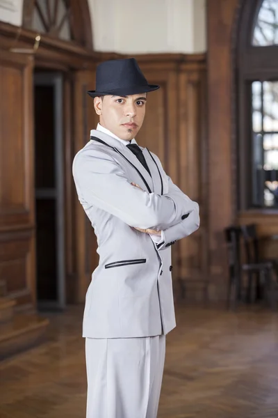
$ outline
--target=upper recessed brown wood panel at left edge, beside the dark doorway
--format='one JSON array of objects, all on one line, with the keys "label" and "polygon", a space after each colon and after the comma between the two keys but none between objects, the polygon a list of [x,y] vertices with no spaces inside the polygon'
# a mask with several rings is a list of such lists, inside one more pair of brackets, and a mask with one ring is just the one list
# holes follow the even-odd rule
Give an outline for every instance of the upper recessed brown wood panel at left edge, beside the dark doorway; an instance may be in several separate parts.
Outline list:
[{"label": "upper recessed brown wood panel at left edge, beside the dark doorway", "polygon": [[[31,61],[0,54],[0,229],[33,224]],[[10,54],[12,55],[12,54]],[[10,60],[9,60],[10,58]],[[13,58],[13,60],[12,60]],[[23,61],[23,62],[22,62]]]}]

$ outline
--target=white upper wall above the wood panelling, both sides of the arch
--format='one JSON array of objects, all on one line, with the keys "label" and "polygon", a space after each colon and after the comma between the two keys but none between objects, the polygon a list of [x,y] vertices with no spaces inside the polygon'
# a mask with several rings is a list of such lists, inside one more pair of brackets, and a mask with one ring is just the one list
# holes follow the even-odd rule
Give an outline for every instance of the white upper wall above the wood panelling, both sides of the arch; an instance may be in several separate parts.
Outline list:
[{"label": "white upper wall above the wood panelling, both sides of the arch", "polygon": [[[88,0],[88,3],[96,51],[122,54],[206,51],[206,0]],[[0,20],[20,26],[22,6],[23,0],[0,0]]]}]

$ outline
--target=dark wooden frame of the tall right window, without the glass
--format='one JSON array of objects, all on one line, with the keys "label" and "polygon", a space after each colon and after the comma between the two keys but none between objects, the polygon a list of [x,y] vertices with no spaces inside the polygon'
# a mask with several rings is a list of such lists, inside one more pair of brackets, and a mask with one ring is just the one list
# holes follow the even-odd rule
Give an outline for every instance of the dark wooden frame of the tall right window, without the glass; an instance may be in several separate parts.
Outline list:
[{"label": "dark wooden frame of the tall right window, without the glass", "polygon": [[278,80],[278,45],[252,45],[262,3],[263,0],[245,1],[239,22],[236,59],[238,209],[277,212],[278,208],[252,207],[252,82]]}]

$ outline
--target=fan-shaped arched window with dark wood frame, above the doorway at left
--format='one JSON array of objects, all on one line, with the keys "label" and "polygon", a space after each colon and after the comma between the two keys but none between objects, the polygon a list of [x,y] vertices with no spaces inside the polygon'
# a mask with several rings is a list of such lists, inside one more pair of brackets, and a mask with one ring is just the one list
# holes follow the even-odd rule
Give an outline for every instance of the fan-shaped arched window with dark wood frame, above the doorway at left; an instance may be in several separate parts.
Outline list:
[{"label": "fan-shaped arched window with dark wood frame, above the doorway at left", "polygon": [[23,26],[92,48],[87,0],[24,0]]}]

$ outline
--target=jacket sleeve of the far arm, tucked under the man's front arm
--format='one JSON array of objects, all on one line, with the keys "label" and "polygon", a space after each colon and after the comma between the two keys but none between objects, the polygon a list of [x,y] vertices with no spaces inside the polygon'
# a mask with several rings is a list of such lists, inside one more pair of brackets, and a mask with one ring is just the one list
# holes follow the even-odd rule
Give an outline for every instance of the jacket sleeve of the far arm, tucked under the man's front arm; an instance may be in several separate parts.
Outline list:
[{"label": "jacket sleeve of the far arm, tucked under the man's front arm", "polygon": [[[179,187],[174,185],[172,183],[172,180],[170,177],[168,177],[169,181],[169,191],[170,195],[173,190],[175,190],[177,193],[183,194]],[[186,195],[184,195],[186,196]],[[186,196],[187,199],[189,199],[188,196]],[[190,200],[190,199],[189,199]],[[170,226],[170,228],[167,228],[163,231],[164,233],[164,242],[161,242],[161,244],[157,245],[157,248],[159,250],[165,249],[167,247],[170,247],[170,245],[173,245],[177,240],[181,240],[181,238],[185,238],[191,233],[197,231],[199,228],[199,205],[198,203],[194,201],[190,201],[193,205],[193,210],[188,212],[186,215],[183,215],[181,222],[179,224],[176,224],[174,226]]]}]

